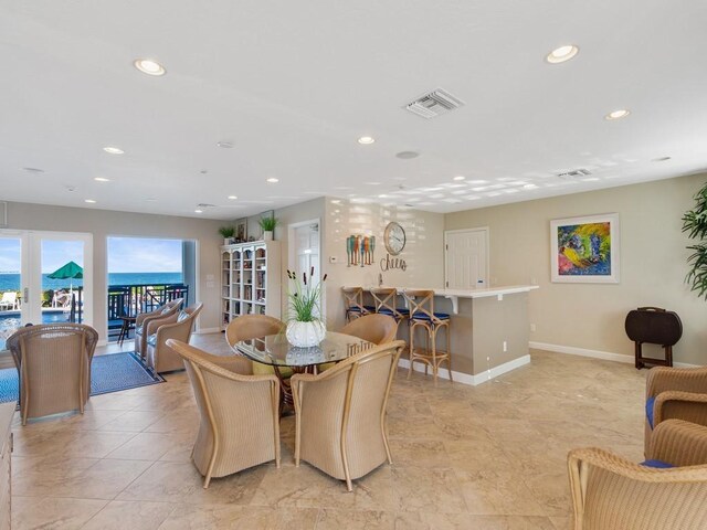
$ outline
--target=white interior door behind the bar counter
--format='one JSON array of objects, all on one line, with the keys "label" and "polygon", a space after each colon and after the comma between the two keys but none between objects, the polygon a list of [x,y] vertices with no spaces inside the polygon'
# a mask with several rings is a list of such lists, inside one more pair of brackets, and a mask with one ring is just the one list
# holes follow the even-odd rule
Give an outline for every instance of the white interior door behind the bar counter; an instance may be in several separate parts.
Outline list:
[{"label": "white interior door behind the bar counter", "polygon": [[488,229],[446,231],[444,245],[447,288],[488,287]]}]

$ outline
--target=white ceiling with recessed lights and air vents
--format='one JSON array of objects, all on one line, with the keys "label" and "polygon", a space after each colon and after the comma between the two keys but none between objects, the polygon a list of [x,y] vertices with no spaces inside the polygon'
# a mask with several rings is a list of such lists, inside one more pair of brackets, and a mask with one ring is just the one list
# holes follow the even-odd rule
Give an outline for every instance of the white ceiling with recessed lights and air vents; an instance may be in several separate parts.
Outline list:
[{"label": "white ceiling with recessed lights and air vents", "polygon": [[[8,0],[0,199],[234,219],[329,194],[451,212],[687,174],[707,168],[705,28],[694,0]],[[544,61],[568,43],[574,60]],[[401,108],[436,87],[466,105]],[[603,119],[618,108],[632,114]],[[597,180],[553,176],[574,168]]]}]

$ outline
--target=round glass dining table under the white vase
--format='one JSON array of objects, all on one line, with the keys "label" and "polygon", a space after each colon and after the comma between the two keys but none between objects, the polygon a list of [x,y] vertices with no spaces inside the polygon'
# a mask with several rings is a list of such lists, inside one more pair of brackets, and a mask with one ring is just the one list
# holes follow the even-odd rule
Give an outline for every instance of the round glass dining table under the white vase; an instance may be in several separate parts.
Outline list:
[{"label": "round glass dining table under the white vase", "polygon": [[317,373],[320,364],[342,361],[374,346],[351,335],[327,331],[319,344],[299,348],[289,343],[283,332],[242,340],[233,344],[233,350],[254,362],[273,367],[279,380],[283,401],[292,405],[292,390],[289,380],[283,374],[284,368],[291,369],[294,373]]}]

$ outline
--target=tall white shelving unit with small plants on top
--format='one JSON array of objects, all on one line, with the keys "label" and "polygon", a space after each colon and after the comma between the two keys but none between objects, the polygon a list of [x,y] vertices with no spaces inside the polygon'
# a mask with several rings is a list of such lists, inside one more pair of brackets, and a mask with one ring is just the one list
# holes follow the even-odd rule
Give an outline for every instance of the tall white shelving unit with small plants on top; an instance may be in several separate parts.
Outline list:
[{"label": "tall white shelving unit with small plants on top", "polygon": [[281,254],[278,241],[221,247],[221,326],[241,315],[279,318]]}]

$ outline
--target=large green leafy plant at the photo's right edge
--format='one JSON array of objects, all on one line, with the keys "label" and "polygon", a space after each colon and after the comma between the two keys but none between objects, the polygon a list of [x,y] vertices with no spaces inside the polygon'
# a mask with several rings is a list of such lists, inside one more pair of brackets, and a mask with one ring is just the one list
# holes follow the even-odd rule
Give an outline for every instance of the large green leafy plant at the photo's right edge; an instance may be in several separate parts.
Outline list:
[{"label": "large green leafy plant at the photo's right edge", "polygon": [[707,299],[707,183],[694,199],[695,208],[683,215],[683,232],[687,232],[690,240],[696,240],[687,247],[693,254],[687,258],[690,269],[685,280],[690,284],[690,290]]}]

